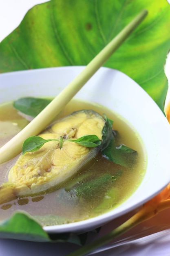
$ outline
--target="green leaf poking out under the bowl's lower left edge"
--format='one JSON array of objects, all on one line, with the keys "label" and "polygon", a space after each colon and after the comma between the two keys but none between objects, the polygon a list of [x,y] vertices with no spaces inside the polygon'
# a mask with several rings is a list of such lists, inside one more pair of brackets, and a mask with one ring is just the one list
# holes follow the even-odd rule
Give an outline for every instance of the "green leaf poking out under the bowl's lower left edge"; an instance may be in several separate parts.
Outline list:
[{"label": "green leaf poking out under the bowl's lower left edge", "polygon": [[33,242],[69,242],[84,245],[87,233],[47,234],[29,214],[16,211],[11,218],[0,223],[0,238],[19,239]]}]

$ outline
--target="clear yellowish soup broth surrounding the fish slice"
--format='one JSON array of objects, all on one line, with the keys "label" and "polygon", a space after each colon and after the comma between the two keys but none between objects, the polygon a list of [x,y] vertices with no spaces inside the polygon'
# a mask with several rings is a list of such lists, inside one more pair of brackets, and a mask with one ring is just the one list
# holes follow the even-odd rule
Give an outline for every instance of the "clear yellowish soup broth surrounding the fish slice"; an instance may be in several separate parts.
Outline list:
[{"label": "clear yellowish soup broth surrounding the fish slice", "polygon": [[[82,109],[93,109],[112,119],[113,129],[118,131],[117,144],[122,143],[136,150],[137,164],[132,168],[120,166],[99,153],[57,190],[1,204],[0,220],[8,218],[16,210],[23,210],[35,216],[42,225],[76,222],[117,207],[135,192],[146,170],[146,154],[139,134],[116,113],[104,106],[85,101],[72,100],[57,119]],[[12,103],[0,106],[0,122],[0,146],[28,124],[27,119],[13,108]],[[0,184],[8,181],[8,171],[16,159],[17,157],[1,164]]]}]

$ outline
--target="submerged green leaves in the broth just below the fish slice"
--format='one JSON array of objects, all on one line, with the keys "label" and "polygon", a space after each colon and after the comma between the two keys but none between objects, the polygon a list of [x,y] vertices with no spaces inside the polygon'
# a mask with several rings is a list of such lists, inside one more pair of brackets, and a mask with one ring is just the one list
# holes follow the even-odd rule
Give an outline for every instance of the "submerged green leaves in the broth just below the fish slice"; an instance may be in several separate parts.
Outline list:
[{"label": "submerged green leaves in the broth just below the fish slice", "polygon": [[[82,173],[72,183],[69,182],[65,186],[65,191],[70,193],[73,198],[78,197],[79,200],[87,200],[88,202],[92,200],[95,212],[99,211],[99,209],[103,211],[113,205],[110,200],[113,200],[114,197],[117,198],[119,191],[114,182],[117,182],[123,174],[124,171],[121,168],[114,175],[107,172],[102,173],[100,176]],[[98,195],[97,198],[96,195]]]}]

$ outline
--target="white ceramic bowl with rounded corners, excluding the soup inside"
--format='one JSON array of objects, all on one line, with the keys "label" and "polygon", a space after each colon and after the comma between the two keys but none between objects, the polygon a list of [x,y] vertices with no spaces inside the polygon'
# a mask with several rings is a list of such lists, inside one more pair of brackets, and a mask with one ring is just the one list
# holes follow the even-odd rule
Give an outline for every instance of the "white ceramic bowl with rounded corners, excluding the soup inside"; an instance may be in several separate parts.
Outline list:
[{"label": "white ceramic bowl with rounded corners, excluding the soup inside", "polygon": [[[57,67],[0,75],[0,103],[25,96],[54,97],[84,67]],[[170,126],[157,104],[125,74],[100,68],[75,96],[102,104],[128,120],[137,130],[148,155],[144,180],[117,208],[95,218],[44,227],[48,232],[84,232],[99,227],[140,206],[170,182]]]}]

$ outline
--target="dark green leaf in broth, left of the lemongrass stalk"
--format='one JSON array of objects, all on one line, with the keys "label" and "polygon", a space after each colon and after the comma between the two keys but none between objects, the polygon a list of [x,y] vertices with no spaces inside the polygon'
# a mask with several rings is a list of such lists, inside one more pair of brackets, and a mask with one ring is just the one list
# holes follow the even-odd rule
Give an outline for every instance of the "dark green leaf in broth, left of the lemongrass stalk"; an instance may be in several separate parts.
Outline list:
[{"label": "dark green leaf in broth, left of the lemongrass stalk", "polygon": [[50,99],[25,97],[14,101],[13,107],[26,115],[36,117],[50,102]]}]

